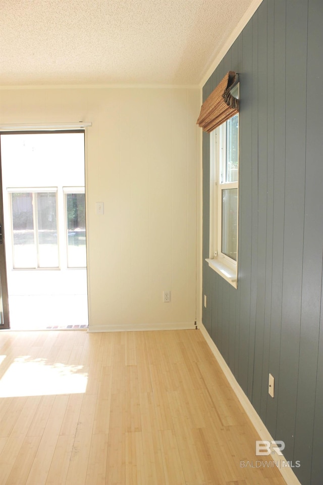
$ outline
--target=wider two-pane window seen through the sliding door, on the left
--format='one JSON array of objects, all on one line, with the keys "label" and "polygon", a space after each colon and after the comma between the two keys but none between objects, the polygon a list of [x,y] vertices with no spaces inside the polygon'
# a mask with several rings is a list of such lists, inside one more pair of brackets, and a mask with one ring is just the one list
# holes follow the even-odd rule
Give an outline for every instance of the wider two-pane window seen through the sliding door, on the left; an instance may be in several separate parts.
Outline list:
[{"label": "wider two-pane window seen through the sliding door, on the left", "polygon": [[56,189],[12,191],[14,268],[58,268]]}]

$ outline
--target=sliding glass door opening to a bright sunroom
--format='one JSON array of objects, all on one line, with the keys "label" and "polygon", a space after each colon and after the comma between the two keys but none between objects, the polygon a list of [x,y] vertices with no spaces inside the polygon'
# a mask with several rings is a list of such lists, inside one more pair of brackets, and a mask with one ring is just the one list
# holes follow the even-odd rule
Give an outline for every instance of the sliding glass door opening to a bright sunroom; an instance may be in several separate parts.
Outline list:
[{"label": "sliding glass door opening to a bright sunroom", "polygon": [[84,130],[0,136],[10,328],[86,328]]}]

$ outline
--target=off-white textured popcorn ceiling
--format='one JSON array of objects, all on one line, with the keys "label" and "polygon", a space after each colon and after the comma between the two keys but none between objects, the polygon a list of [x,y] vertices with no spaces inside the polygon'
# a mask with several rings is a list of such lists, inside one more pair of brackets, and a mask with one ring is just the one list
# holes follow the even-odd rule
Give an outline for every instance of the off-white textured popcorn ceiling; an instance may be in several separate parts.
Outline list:
[{"label": "off-white textured popcorn ceiling", "polygon": [[0,0],[0,84],[198,84],[254,0]]}]

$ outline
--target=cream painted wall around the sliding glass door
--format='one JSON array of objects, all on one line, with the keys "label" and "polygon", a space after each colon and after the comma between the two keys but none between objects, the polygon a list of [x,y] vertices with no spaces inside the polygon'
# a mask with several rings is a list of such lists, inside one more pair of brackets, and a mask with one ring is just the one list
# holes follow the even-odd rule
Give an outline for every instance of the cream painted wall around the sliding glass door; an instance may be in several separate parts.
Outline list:
[{"label": "cream painted wall around the sliding glass door", "polygon": [[[193,328],[200,301],[200,90],[0,90],[0,123],[86,132],[89,329]],[[95,203],[104,202],[104,215]],[[171,303],[163,303],[163,290]],[[198,293],[198,298],[197,298]]]}]

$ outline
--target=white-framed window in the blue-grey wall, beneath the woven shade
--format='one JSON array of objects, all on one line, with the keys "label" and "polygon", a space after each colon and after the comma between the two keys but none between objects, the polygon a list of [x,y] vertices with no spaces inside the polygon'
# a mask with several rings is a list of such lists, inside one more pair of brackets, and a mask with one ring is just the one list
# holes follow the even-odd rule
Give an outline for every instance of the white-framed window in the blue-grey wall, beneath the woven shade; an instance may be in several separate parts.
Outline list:
[{"label": "white-framed window in the blue-grey wall, beneath the woven shade", "polygon": [[[239,98],[239,84],[232,89]],[[237,287],[239,114],[210,133],[209,266]]]}]

